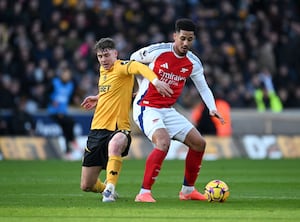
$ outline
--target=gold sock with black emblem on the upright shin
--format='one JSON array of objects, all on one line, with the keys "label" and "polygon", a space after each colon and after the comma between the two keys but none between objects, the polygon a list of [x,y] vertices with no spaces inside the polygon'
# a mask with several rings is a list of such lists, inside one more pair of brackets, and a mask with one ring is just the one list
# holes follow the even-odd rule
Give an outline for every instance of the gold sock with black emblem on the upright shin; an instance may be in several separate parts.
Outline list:
[{"label": "gold sock with black emblem on the upright shin", "polygon": [[117,185],[119,175],[122,168],[122,157],[110,156],[106,167],[106,182],[107,184]]}]

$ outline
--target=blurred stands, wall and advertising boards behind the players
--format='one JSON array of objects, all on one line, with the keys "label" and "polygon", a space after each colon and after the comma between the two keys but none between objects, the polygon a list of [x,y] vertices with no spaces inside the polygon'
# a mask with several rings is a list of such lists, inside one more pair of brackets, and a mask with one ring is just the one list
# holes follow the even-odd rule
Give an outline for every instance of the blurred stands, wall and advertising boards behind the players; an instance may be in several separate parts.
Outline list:
[{"label": "blurred stands, wall and advertising boards behind the players", "polygon": [[[172,41],[174,21],[189,17],[199,26],[194,51],[207,81],[232,107],[233,135],[207,137],[206,159],[300,157],[299,1],[0,0],[0,152],[4,159],[60,158],[61,129],[45,111],[47,84],[72,69],[76,93],[70,105],[81,147],[92,113],[82,99],[97,93],[95,41],[110,36],[121,59],[150,43]],[[254,92],[271,83],[283,110],[258,112]],[[189,117],[200,98],[187,83],[178,108]],[[25,104],[36,120],[35,135],[14,135],[12,111]],[[129,158],[143,158],[151,144],[136,129]],[[169,158],[185,148],[173,144]]]}]

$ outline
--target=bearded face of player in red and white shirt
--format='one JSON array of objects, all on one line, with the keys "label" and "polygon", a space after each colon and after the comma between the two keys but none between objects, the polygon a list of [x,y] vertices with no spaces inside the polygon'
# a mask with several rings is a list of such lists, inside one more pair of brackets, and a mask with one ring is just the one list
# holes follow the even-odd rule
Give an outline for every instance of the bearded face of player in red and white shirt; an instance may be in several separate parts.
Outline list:
[{"label": "bearded face of player in red and white shirt", "polygon": [[193,41],[195,39],[195,34],[193,31],[175,32],[174,35],[174,50],[177,55],[184,56],[192,47]]}]

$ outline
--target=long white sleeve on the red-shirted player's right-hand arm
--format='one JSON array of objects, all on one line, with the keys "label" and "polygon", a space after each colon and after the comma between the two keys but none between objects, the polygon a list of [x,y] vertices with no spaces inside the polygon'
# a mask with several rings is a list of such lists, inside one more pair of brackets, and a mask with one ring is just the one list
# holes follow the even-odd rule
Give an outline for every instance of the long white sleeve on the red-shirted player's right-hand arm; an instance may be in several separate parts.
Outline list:
[{"label": "long white sleeve on the red-shirted player's right-hand arm", "polygon": [[194,82],[202,100],[208,107],[209,111],[217,110],[215,98],[209,86],[207,85],[207,82],[203,74],[202,66],[198,67],[198,69],[195,70],[195,72],[193,72],[193,74],[191,75],[191,79]]}]

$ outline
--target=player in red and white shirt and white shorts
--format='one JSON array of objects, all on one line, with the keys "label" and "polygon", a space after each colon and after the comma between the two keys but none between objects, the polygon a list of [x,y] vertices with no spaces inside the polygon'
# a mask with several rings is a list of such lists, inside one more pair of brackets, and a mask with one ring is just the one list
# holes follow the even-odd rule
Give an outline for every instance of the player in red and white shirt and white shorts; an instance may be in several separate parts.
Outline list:
[{"label": "player in red and white shirt and white shorts", "polygon": [[224,124],[205,80],[201,61],[190,51],[195,31],[196,25],[192,20],[178,19],[173,34],[174,42],[152,44],[131,55],[131,60],[149,64],[159,79],[168,83],[174,92],[171,97],[163,97],[147,79],[138,80],[139,91],[133,104],[134,121],[155,148],[146,160],[142,188],[135,198],[136,202],[156,202],[151,188],[167,155],[171,139],[178,140],[189,148],[179,199],[206,201],[206,197],[195,189],[206,142],[192,123],[173,108],[187,78],[190,77],[210,115]]}]

